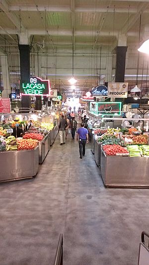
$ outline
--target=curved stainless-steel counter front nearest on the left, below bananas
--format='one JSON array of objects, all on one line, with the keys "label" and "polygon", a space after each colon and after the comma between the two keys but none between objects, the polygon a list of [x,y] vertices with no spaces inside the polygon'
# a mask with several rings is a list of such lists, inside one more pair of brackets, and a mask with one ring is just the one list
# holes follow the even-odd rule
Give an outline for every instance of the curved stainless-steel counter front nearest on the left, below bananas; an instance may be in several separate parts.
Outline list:
[{"label": "curved stainless-steel counter front nearest on the left, below bananas", "polygon": [[0,182],[31,178],[38,172],[39,147],[0,152]]}]

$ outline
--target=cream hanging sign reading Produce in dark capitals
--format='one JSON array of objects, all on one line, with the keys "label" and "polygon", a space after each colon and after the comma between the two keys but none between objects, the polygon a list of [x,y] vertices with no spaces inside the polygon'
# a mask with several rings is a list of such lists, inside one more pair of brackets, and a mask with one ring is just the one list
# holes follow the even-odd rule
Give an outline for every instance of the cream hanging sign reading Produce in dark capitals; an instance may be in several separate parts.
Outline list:
[{"label": "cream hanging sign reading Produce in dark capitals", "polygon": [[109,98],[127,98],[128,83],[108,83]]}]

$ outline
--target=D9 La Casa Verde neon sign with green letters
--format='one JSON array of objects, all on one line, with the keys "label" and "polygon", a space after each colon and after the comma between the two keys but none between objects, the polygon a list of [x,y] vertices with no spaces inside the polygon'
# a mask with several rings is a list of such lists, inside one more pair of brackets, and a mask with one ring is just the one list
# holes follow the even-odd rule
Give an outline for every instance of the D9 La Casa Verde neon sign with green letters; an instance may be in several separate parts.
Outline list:
[{"label": "D9 La Casa Verde neon sign with green letters", "polygon": [[20,81],[21,95],[49,96],[50,82],[39,77],[31,77],[30,82]]}]

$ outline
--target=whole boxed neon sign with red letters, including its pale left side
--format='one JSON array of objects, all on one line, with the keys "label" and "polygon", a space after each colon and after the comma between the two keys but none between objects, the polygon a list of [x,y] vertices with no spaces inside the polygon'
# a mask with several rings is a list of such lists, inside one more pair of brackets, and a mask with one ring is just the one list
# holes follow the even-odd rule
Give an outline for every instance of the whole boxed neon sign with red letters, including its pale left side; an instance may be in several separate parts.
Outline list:
[{"label": "whole boxed neon sign with red letters, including its pale left side", "polygon": [[95,115],[121,115],[121,102],[91,102],[89,110]]}]

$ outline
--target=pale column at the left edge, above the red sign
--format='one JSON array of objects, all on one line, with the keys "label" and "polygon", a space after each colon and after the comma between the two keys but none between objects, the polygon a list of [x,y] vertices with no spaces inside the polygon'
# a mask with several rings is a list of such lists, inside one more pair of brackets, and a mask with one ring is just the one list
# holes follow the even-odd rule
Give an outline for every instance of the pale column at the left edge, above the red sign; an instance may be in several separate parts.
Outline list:
[{"label": "pale column at the left edge, above the red sign", "polygon": [[7,54],[0,55],[1,60],[1,71],[2,71],[2,81],[3,81],[3,91],[2,97],[9,97],[11,93],[10,79],[9,79],[9,67],[8,67],[8,57]]}]

